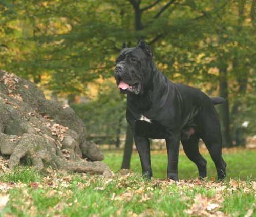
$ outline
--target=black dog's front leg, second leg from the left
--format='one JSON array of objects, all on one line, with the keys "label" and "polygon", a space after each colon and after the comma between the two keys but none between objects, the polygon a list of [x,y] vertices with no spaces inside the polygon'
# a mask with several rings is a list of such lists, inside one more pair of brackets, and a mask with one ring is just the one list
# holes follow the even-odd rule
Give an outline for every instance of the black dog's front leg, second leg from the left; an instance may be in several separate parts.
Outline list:
[{"label": "black dog's front leg, second leg from the left", "polygon": [[180,147],[180,135],[174,135],[165,139],[167,153],[168,153],[168,166],[167,166],[167,178],[174,181],[178,180],[178,159],[179,159],[179,147]]}]

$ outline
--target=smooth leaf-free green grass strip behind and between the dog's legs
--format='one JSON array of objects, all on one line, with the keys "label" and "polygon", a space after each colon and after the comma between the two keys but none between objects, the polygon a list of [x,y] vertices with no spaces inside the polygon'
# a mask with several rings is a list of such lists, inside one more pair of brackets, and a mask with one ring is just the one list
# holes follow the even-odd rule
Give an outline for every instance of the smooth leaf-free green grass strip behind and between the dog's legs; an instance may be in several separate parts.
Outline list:
[{"label": "smooth leaf-free green grass strip behind and between the dog's legs", "polygon": [[[123,153],[121,151],[105,152],[104,162],[109,167],[117,172],[120,170]],[[208,177],[217,176],[217,172],[207,151],[203,151],[203,157],[207,160]],[[223,154],[223,158],[227,163],[227,179],[237,178],[241,180],[256,178],[256,151],[236,150],[231,153]],[[167,153],[166,151],[153,151],[151,154],[151,164],[153,176],[156,178],[166,178],[167,170]],[[137,151],[134,151],[131,159],[131,170],[136,173],[141,173],[140,159]],[[195,179],[198,176],[196,165],[191,162],[183,152],[179,156],[179,178],[180,179]]]}]

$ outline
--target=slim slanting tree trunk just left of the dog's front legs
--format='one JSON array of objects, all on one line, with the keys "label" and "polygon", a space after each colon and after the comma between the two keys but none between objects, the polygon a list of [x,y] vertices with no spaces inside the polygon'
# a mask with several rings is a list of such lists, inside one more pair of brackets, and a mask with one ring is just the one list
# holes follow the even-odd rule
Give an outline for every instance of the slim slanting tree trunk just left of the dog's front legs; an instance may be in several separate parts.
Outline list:
[{"label": "slim slanting tree trunk just left of the dog's front legs", "polygon": [[133,151],[133,131],[130,125],[127,125],[126,130],[126,140],[124,145],[124,153],[123,153],[123,162],[121,169],[129,169],[130,168],[130,161]]}]

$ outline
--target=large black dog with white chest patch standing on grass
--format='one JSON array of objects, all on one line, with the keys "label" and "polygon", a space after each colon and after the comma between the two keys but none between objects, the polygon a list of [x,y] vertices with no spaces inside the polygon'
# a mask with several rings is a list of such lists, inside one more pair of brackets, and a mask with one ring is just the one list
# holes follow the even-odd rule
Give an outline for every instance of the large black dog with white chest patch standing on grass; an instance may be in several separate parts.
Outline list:
[{"label": "large black dog with white chest patch standing on grass", "polygon": [[126,119],[134,130],[143,175],[152,176],[148,140],[151,138],[166,140],[169,179],[178,181],[180,140],[187,157],[197,165],[199,176],[206,177],[206,160],[198,149],[202,138],[215,163],[218,179],[224,179],[226,163],[214,107],[223,98],[209,98],[198,89],[173,83],[157,70],[152,56],[150,46],[143,40],[134,48],[124,45],[114,73],[121,93],[127,93]]}]

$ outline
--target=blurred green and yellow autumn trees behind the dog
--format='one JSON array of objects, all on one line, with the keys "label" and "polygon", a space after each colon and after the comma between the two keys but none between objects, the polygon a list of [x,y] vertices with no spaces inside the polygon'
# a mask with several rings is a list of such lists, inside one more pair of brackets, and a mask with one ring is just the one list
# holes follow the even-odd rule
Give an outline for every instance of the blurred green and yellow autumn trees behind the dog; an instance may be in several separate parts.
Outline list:
[{"label": "blurred green and yellow autumn trees behind the dog", "polygon": [[66,99],[96,142],[119,147],[127,134],[130,159],[125,97],[112,77],[122,43],[144,38],[171,80],[226,99],[218,112],[232,147],[255,134],[255,30],[255,0],[1,0],[0,68]]}]

